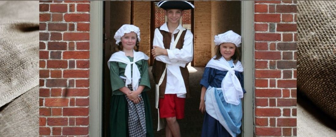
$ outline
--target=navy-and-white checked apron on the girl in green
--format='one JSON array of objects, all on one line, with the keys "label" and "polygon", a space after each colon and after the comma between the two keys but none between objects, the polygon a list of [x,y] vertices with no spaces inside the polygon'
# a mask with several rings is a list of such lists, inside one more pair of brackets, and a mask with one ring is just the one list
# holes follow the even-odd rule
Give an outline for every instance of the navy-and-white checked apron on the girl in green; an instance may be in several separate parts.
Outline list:
[{"label": "navy-and-white checked apron on the girl in green", "polygon": [[[120,76],[120,78],[126,82],[126,77]],[[140,79],[139,79],[140,83]],[[127,88],[133,90],[132,84],[128,84]],[[125,95],[128,104],[128,132],[129,137],[145,137],[146,136],[146,119],[145,119],[145,106],[143,103],[142,95],[139,94],[141,98],[138,104],[134,104],[133,101],[129,100],[127,95]]]}]

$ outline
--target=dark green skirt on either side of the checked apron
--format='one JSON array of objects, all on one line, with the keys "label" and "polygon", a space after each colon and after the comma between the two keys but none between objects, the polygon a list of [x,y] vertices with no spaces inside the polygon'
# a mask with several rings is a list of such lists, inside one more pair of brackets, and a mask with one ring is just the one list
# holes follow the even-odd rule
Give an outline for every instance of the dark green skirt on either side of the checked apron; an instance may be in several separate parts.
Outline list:
[{"label": "dark green skirt on either side of the checked apron", "polygon": [[[145,106],[146,137],[153,137],[154,132],[150,102],[146,92],[142,92],[141,95]],[[110,136],[128,137],[128,108],[125,95],[113,95],[110,103]]]}]

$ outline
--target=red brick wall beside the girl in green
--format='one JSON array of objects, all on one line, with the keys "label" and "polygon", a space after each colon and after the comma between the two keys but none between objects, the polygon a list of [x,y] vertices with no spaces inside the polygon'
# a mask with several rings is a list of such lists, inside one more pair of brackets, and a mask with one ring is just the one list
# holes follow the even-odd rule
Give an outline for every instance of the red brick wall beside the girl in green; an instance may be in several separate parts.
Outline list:
[{"label": "red brick wall beside the girl in green", "polygon": [[89,1],[40,1],[40,136],[89,134]]}]

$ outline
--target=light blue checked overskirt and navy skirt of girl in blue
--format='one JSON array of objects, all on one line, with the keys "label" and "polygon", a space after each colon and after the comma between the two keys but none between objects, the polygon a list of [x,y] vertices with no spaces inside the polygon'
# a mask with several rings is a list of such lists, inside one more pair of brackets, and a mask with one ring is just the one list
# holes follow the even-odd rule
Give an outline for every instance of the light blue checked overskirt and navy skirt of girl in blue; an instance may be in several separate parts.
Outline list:
[{"label": "light blue checked overskirt and navy skirt of girl in blue", "polygon": [[205,107],[202,137],[236,137],[241,134],[241,103],[227,103],[221,88],[210,87],[205,93]]}]

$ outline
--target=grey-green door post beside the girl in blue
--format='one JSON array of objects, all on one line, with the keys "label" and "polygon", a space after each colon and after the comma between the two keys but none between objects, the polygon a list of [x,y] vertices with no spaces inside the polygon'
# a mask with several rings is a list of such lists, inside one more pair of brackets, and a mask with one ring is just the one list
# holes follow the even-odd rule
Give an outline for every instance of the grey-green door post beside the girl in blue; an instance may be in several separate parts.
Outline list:
[{"label": "grey-green door post beside the girl in blue", "polygon": [[254,133],[254,1],[242,1],[242,64],[244,66],[244,88],[247,93],[243,100],[243,137],[251,137]]}]

